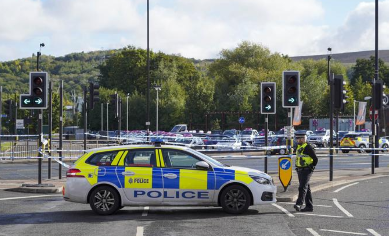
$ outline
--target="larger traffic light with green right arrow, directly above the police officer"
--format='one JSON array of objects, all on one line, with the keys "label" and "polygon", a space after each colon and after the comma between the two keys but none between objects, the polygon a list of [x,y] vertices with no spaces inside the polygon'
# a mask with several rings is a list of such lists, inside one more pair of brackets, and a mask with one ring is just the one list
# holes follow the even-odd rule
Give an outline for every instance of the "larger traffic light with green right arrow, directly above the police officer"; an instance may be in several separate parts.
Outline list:
[{"label": "larger traffic light with green right arrow, directly above the police officer", "polygon": [[298,107],[300,102],[300,71],[282,72],[282,107]]}]

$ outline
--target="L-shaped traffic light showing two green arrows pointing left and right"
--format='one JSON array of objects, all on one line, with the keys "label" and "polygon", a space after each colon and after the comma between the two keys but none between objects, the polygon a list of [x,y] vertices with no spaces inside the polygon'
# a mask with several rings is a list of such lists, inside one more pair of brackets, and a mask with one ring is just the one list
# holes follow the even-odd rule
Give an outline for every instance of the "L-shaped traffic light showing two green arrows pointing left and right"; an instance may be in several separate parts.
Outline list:
[{"label": "L-shaped traffic light showing two green arrows pointing left and right", "polygon": [[20,109],[47,109],[48,83],[47,72],[30,72],[30,93],[20,95]]}]

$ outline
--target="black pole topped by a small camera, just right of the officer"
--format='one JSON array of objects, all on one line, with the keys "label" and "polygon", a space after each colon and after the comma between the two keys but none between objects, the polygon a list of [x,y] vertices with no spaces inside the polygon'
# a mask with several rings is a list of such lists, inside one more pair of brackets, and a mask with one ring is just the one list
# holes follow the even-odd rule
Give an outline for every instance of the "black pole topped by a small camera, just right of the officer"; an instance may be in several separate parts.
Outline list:
[{"label": "black pole topped by a small camera, just right of the officer", "polygon": [[334,154],[334,142],[333,142],[333,130],[334,130],[334,111],[333,111],[333,99],[334,99],[334,83],[331,75],[331,55],[328,55],[327,58],[327,69],[328,69],[328,84],[329,84],[329,181],[333,180],[333,154]]}]

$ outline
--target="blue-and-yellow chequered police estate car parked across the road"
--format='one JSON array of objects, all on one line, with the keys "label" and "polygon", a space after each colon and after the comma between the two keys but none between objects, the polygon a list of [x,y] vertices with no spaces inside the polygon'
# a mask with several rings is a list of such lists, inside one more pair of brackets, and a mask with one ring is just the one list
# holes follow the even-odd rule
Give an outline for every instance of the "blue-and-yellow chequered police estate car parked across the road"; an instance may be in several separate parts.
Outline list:
[{"label": "blue-and-yellow chequered police estate car parked across the road", "polygon": [[124,206],[221,206],[239,214],[275,203],[277,187],[261,171],[226,166],[191,148],[127,145],[88,150],[67,171],[63,199],[100,215]]}]

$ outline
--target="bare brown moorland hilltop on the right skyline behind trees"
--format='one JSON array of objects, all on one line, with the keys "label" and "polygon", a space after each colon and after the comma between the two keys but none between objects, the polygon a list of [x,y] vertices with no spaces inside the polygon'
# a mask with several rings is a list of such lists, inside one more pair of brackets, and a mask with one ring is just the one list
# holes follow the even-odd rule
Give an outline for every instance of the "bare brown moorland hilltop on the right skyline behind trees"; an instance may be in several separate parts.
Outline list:
[{"label": "bare brown moorland hilltop on the right skyline behind trees", "polygon": [[[351,52],[351,53],[335,53],[332,55],[332,58],[342,62],[342,63],[356,63],[357,58],[369,59],[370,56],[374,56],[374,50],[371,51],[359,51],[359,52]],[[379,50],[378,57],[381,58],[384,62],[389,62],[389,50]],[[313,59],[320,60],[323,58],[327,58],[326,54],[323,55],[311,55],[311,56],[291,56],[293,61],[300,61],[304,59]]]}]

